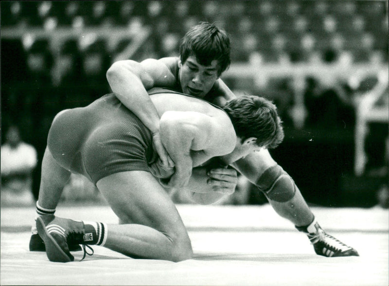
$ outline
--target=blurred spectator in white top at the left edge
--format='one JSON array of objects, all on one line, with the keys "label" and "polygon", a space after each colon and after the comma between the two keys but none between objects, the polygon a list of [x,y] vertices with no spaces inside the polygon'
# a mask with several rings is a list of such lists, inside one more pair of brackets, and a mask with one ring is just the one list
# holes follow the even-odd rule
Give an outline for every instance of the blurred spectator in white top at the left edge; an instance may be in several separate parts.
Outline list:
[{"label": "blurred spectator in white top at the left edge", "polygon": [[18,127],[9,127],[1,146],[1,206],[35,204],[32,172],[36,163],[34,146],[21,140]]}]

